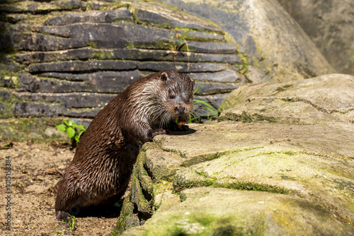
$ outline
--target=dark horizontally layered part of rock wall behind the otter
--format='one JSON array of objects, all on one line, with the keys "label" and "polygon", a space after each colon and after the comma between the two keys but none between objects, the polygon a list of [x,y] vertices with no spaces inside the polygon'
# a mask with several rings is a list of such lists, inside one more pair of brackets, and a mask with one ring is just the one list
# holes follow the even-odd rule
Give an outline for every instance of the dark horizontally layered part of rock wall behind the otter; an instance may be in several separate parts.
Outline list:
[{"label": "dark horizontally layered part of rock wall behind the otter", "polygon": [[0,80],[2,87],[13,89],[12,115],[93,118],[132,81],[166,69],[203,83],[200,99],[216,108],[227,93],[245,83],[237,67],[242,55],[217,25],[160,4],[128,5],[2,5],[12,25],[5,24],[7,36],[0,39],[16,51],[13,58],[4,58],[12,68],[17,66],[16,76]]}]

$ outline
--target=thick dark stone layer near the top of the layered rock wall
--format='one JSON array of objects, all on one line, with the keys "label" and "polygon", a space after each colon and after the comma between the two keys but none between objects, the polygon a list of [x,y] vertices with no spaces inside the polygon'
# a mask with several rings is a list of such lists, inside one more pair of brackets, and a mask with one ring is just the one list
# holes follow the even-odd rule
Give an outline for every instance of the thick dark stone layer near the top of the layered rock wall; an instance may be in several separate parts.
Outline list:
[{"label": "thick dark stone layer near the top of the layered rock wall", "polygon": [[169,49],[169,42],[173,42],[171,37],[175,35],[171,30],[124,23],[79,23],[68,26],[41,26],[35,30],[62,37],[26,33],[21,42],[23,49],[54,51],[89,45],[105,49],[124,47]]}]

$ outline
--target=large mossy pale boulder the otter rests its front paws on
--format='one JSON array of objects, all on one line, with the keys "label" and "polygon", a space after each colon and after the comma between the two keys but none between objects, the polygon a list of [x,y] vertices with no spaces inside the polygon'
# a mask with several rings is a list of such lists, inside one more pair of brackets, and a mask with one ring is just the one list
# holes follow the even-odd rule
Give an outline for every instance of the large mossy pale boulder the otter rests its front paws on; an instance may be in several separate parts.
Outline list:
[{"label": "large mossy pale boulder the otter rests its front paws on", "polygon": [[124,235],[210,235],[227,225],[244,235],[353,234],[353,131],[346,122],[222,122],[156,136],[138,158],[154,183],[142,187],[154,214]]}]

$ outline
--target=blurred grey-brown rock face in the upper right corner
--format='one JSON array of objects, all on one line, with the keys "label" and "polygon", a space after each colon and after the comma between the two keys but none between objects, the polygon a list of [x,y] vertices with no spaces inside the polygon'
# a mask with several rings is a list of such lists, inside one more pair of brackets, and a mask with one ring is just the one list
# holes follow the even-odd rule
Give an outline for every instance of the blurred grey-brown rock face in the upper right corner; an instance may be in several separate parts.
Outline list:
[{"label": "blurred grey-brown rock face in the upper right corner", "polygon": [[354,2],[302,0],[278,2],[309,35],[331,66],[339,73],[354,75]]}]

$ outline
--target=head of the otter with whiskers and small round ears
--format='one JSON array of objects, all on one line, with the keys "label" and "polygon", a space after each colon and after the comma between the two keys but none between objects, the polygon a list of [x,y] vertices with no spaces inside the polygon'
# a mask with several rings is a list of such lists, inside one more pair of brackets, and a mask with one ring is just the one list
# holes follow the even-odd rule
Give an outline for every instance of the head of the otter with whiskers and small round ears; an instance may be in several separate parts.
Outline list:
[{"label": "head of the otter with whiskers and small round ears", "polygon": [[154,117],[159,117],[159,126],[176,118],[188,123],[193,109],[195,81],[173,70],[161,71],[156,76],[159,94],[155,98],[161,114],[158,112]]}]

